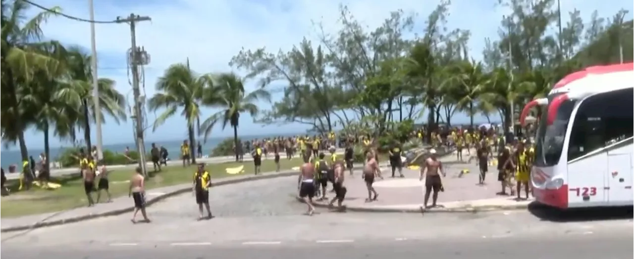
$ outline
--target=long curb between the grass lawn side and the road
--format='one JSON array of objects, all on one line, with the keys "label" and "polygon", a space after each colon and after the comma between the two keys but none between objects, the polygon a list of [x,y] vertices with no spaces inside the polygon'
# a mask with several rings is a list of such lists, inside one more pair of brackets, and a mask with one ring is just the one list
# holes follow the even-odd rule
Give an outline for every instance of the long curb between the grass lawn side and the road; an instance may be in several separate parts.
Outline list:
[{"label": "long curb between the grass lawn side and the road", "polygon": [[[284,173],[278,173],[278,174],[250,175],[248,177],[243,177],[243,178],[239,178],[239,179],[219,180],[218,182],[216,182],[214,184],[214,186],[225,186],[225,185],[229,185],[229,184],[239,184],[239,183],[242,183],[242,182],[250,182],[250,181],[254,181],[254,180],[273,179],[273,178],[278,178],[278,177],[289,177],[289,176],[293,176],[293,175],[297,175],[297,172],[284,172]],[[177,196],[177,195],[183,194],[183,193],[188,193],[190,191],[191,191],[191,187],[185,187],[185,188],[177,189],[176,191],[171,191],[169,193],[161,194],[161,195],[156,196],[156,197],[154,197],[152,199],[148,199],[145,202],[145,206],[146,207],[147,206],[152,206],[154,203],[157,203],[157,202],[162,201],[164,199],[171,198],[172,196]],[[42,222],[36,222],[35,224],[30,224],[30,225],[20,225],[20,226],[15,226],[15,227],[7,227],[7,228],[4,228],[4,229],[0,229],[0,233],[16,232],[16,231],[30,231],[32,229],[39,229],[41,227],[51,227],[51,226],[55,226],[55,225],[63,225],[63,224],[69,224],[69,223],[74,223],[74,222],[80,222],[80,221],[84,221],[84,220],[90,220],[90,219],[93,219],[93,218],[116,216],[116,215],[120,215],[120,214],[123,214],[123,213],[133,212],[133,210],[134,210],[134,206],[130,206],[130,207],[127,207],[127,208],[121,208],[121,209],[118,209],[118,210],[111,210],[111,211],[108,211],[108,212],[81,215],[81,216],[78,216],[78,217],[63,218],[63,219],[60,219],[60,220],[42,221]]]}]

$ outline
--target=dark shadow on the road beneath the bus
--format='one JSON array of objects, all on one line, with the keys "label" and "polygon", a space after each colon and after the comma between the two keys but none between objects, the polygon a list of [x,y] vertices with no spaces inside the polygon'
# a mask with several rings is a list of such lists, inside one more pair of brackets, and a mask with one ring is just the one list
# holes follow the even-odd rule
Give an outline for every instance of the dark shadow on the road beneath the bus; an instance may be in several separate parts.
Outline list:
[{"label": "dark shadow on the road beneath the bus", "polygon": [[583,222],[599,220],[623,220],[634,217],[634,206],[571,208],[560,210],[540,203],[528,205],[528,211],[541,220],[551,222]]}]

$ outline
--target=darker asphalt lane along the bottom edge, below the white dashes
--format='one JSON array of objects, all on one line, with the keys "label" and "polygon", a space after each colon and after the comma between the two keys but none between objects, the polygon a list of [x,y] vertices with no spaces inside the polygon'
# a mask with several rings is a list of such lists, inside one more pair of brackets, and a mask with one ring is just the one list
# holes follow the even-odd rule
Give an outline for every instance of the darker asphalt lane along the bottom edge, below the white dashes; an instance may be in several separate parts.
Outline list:
[{"label": "darker asphalt lane along the bottom edge, below the white dashes", "polygon": [[499,239],[446,239],[424,241],[366,241],[361,243],[319,243],[282,246],[156,246],[108,247],[86,246],[15,250],[3,248],[4,259],[40,258],[259,258],[259,259],[322,259],[322,258],[631,258],[631,241],[627,232],[601,236],[548,236]]}]

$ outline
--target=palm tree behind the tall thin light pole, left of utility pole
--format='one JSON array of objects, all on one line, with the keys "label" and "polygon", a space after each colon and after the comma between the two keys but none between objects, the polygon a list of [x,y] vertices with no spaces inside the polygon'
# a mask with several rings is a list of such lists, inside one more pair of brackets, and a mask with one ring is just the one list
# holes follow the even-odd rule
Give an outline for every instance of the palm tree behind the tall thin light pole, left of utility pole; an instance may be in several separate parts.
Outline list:
[{"label": "palm tree behind the tall thin light pole, left of utility pole", "polygon": [[[91,57],[81,47],[73,46],[68,49],[68,75],[73,89],[80,91],[81,113],[78,126],[83,129],[87,150],[91,149],[90,129],[91,122],[95,122],[97,111],[94,110],[93,98],[93,72],[90,64]],[[126,97],[115,88],[112,79],[100,78],[97,80],[99,89],[100,112],[110,115],[119,124],[126,121]],[[105,118],[101,117],[101,122]]]}]

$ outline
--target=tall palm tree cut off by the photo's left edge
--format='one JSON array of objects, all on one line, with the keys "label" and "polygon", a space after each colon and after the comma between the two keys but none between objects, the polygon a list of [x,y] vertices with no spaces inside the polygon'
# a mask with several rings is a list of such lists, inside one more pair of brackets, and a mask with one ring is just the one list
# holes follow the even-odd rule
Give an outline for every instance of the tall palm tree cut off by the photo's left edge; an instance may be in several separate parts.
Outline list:
[{"label": "tall palm tree cut off by the photo's left edge", "polygon": [[20,110],[21,87],[28,87],[33,77],[32,68],[45,68],[55,63],[53,58],[38,49],[52,42],[41,42],[40,26],[60,8],[42,11],[27,19],[30,5],[24,1],[0,0],[0,125],[3,140],[18,142],[22,160],[27,160],[24,131],[27,127]]}]

